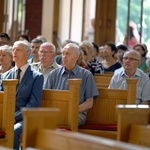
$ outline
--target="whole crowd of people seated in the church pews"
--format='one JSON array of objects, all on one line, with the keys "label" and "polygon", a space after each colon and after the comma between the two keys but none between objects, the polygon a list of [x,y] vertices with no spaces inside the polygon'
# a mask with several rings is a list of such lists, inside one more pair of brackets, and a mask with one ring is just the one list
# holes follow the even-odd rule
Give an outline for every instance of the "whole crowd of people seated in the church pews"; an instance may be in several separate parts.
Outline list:
[{"label": "whole crowd of people seated in the church pews", "polygon": [[[67,90],[68,79],[81,78],[79,126],[84,125],[87,112],[93,106],[97,90],[94,75],[114,73],[109,88],[126,89],[126,78],[138,78],[137,104],[150,100],[150,59],[147,46],[138,43],[129,49],[106,42],[97,43],[70,39],[62,43],[61,53],[43,36],[30,39],[22,35],[12,45],[7,33],[0,34],[1,90],[3,79],[18,79],[14,118],[14,149],[19,149],[22,135],[22,107],[39,107],[43,89]],[[24,94],[26,93],[26,94]]]}]

